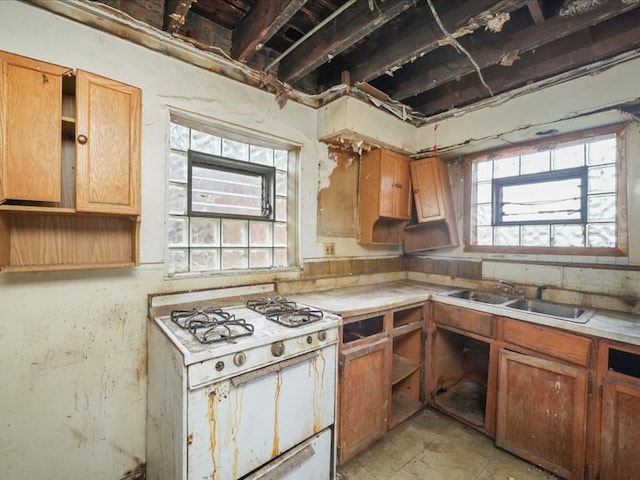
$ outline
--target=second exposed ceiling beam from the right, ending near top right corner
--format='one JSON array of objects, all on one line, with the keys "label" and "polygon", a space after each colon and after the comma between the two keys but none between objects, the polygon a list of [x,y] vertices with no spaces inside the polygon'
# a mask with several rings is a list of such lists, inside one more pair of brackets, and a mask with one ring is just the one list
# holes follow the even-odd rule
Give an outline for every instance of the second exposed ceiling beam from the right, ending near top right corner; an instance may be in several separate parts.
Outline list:
[{"label": "second exposed ceiling beam from the right, ending near top right corner", "polygon": [[[624,12],[638,8],[640,3],[624,3],[623,1],[609,1],[601,7],[587,13],[570,18],[554,17],[541,25],[533,25],[520,30],[511,36],[510,41],[487,48],[485,45],[468,50],[482,69],[499,64],[506,56],[515,56],[539,48],[595,25],[607,19],[616,17]],[[406,99],[414,95],[432,90],[442,84],[454,81],[475,71],[473,65],[466,58],[459,57],[453,61],[433,66],[428,58],[416,61],[411,77],[405,81],[398,81],[397,88],[389,94],[393,98]]]}]

